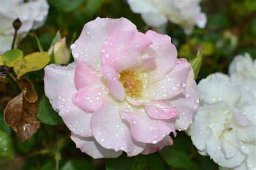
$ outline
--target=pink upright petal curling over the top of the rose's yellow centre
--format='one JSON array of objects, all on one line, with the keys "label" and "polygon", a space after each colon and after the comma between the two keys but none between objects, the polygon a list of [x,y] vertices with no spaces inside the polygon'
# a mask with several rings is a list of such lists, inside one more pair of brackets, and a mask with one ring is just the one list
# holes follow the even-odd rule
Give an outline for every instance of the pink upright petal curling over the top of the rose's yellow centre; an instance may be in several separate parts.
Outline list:
[{"label": "pink upright petal curling over the top of the rose's yellow centre", "polygon": [[141,32],[119,31],[113,33],[102,48],[102,63],[116,71],[123,71],[135,66],[141,60],[141,51],[152,44]]}]

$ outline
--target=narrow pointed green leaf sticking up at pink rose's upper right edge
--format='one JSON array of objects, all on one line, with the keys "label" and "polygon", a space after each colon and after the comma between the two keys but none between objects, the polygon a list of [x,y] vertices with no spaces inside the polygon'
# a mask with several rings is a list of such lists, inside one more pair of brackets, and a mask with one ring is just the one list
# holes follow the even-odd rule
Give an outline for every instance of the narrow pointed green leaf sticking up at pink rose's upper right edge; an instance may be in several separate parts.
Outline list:
[{"label": "narrow pointed green leaf sticking up at pink rose's upper right edge", "polygon": [[194,79],[197,79],[201,64],[202,64],[202,59],[203,59],[203,52],[204,52],[204,46],[201,46],[200,49],[197,52],[197,56],[190,59],[189,63],[192,66],[192,69],[194,70]]}]

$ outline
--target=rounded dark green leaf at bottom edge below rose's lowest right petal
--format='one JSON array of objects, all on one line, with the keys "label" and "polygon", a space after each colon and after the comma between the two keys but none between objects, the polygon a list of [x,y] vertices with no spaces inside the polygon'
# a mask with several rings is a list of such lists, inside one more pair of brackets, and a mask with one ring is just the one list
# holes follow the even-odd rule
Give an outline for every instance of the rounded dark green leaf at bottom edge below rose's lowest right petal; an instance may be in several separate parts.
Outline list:
[{"label": "rounded dark green leaf at bottom edge below rose's lowest right petal", "polygon": [[148,155],[139,154],[135,157],[131,170],[140,169],[164,170],[166,167],[164,160],[157,153],[151,153]]}]

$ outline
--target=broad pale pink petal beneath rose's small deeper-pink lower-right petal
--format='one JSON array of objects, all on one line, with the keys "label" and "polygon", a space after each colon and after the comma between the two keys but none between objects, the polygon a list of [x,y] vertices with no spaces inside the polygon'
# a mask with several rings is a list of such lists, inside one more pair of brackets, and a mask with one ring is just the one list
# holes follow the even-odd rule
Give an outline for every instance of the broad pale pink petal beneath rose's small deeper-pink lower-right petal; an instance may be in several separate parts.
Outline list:
[{"label": "broad pale pink petal beneath rose's small deeper-pink lower-right petal", "polygon": [[122,119],[130,123],[133,138],[140,142],[156,144],[175,131],[174,120],[152,119],[143,108],[130,110],[123,107],[120,108],[120,114]]}]

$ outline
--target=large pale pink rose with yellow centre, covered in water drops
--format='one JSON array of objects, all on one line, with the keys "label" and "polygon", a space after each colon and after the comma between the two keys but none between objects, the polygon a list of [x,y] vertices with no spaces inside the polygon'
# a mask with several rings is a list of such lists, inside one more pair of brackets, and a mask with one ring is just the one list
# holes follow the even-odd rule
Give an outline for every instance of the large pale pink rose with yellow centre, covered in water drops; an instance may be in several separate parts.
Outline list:
[{"label": "large pale pink rose with yellow centre, covered in water drops", "polygon": [[149,154],[192,123],[197,84],[169,36],[138,32],[125,18],[97,18],[71,49],[75,62],[45,67],[45,94],[82,152]]}]

